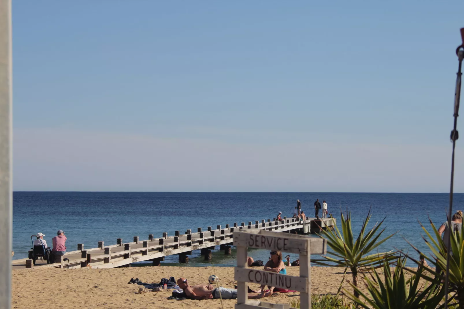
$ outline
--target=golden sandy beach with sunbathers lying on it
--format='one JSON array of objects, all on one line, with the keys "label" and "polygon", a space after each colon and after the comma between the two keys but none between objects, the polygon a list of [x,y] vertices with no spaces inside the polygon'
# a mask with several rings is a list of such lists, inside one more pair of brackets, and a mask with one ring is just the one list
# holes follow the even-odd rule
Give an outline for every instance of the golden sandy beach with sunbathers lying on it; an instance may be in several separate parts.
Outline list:
[{"label": "golden sandy beach with sunbathers lying on it", "polygon": [[[262,269],[262,267],[257,267]],[[220,285],[233,288],[233,267],[131,267],[113,269],[35,269],[13,270],[12,308],[108,308],[108,309],[180,309],[221,308],[219,299],[213,300],[168,300],[169,290],[138,294],[140,285],[128,284],[131,278],[142,282],[159,283],[161,278],[186,277],[190,284],[207,283],[215,274]],[[298,276],[299,267],[288,267],[289,275]],[[342,269],[311,267],[314,294],[335,293],[342,280]],[[350,280],[348,275],[346,280]],[[250,284],[251,289],[258,285]],[[348,284],[347,284],[348,288]],[[296,293],[278,293],[264,299],[270,303],[290,303],[299,298]],[[232,309],[236,300],[224,300],[224,308]]]}]

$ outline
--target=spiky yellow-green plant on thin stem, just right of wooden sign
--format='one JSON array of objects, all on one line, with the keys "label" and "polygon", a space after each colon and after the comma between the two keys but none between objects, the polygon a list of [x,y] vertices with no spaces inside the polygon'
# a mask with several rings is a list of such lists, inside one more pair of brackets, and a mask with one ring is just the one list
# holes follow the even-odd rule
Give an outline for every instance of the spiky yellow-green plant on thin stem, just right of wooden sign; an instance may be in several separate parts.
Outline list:
[{"label": "spiky yellow-green plant on thin stem, just right of wooden sign", "polygon": [[[330,229],[327,231],[322,230],[324,236],[319,235],[321,238],[325,237],[327,239],[327,244],[333,250],[328,251],[327,253],[333,257],[322,256],[324,259],[312,259],[311,262],[317,265],[337,266],[345,268],[338,292],[340,292],[342,288],[342,283],[345,279],[345,275],[348,269],[351,270],[353,285],[357,287],[359,270],[369,270],[376,267],[382,260],[386,260],[388,262],[397,258],[396,252],[393,251],[368,254],[394,235],[393,233],[392,235],[379,240],[380,236],[385,231],[384,228],[379,232],[380,226],[382,225],[385,218],[379,224],[375,224],[374,227],[365,234],[367,230],[367,224],[371,218],[370,212],[371,211],[369,210],[366,219],[362,223],[361,232],[359,233],[356,240],[354,240],[353,230],[351,229],[351,213],[349,213],[348,210],[346,219],[343,213],[341,213],[343,233],[341,233],[337,225],[335,225],[335,232]],[[329,264],[329,262],[333,264]],[[353,293],[354,296],[359,296],[356,290],[354,290]]]}]

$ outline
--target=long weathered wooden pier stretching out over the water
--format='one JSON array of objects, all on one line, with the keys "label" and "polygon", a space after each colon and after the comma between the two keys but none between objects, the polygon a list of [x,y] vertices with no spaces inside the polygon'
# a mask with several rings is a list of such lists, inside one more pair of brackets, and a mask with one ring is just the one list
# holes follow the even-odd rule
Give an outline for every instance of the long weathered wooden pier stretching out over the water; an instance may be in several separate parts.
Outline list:
[{"label": "long weathered wooden pier stretching out over the water", "polygon": [[[157,266],[164,257],[169,255],[179,255],[180,263],[188,263],[188,255],[193,250],[201,250],[201,255],[205,260],[211,259],[211,250],[219,245],[219,250],[225,250],[225,254],[230,254],[230,245],[233,243],[233,232],[239,230],[267,230],[273,232],[290,232],[306,234],[311,232],[311,226],[318,229],[330,228],[336,224],[335,218],[319,219],[308,218],[299,221],[295,218],[284,217],[283,221],[262,219],[261,221],[248,221],[241,224],[234,223],[232,226],[226,224],[224,228],[217,225],[215,229],[208,227],[207,231],[202,231],[199,227],[197,232],[187,230],[181,234],[176,231],[174,236],[168,236],[163,232],[161,238],[154,238],[153,234],[148,235],[147,240],[139,240],[134,236],[132,242],[123,243],[121,238],[116,240],[116,245],[105,246],[103,241],[98,242],[97,248],[85,249],[84,244],[77,245],[77,251],[66,252],[64,258],[68,260],[62,263],[46,264],[45,261],[38,260],[32,265],[32,260],[23,258],[13,260],[13,269],[18,268],[114,268],[130,267],[130,264],[142,261],[152,261],[153,266]],[[317,231],[319,232],[319,231]],[[39,264],[43,263],[43,264]]]}]

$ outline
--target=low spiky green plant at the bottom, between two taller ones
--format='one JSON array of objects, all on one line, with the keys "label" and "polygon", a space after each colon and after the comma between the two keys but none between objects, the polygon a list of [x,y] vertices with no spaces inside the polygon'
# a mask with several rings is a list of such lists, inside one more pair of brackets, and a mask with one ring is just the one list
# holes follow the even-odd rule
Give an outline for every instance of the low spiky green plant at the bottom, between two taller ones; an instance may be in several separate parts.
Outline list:
[{"label": "low spiky green plant at the bottom, between two taller ones", "polygon": [[373,270],[371,278],[364,277],[368,295],[363,293],[358,287],[353,289],[361,296],[345,290],[345,294],[357,306],[365,309],[436,309],[443,308],[445,304],[442,301],[445,291],[437,283],[431,283],[428,286],[419,286],[419,280],[423,273],[424,267],[419,266],[416,275],[406,279],[404,274],[406,258],[398,258],[397,267],[392,273],[390,264],[383,262],[383,281],[377,270]]}]

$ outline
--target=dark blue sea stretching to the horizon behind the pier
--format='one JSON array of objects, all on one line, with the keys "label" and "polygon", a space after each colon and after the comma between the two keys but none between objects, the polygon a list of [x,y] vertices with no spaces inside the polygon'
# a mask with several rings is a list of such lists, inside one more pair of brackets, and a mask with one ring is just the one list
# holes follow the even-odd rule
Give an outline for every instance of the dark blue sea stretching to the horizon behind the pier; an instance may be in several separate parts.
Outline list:
[{"label": "dark blue sea stretching to the horizon behind the pier", "polygon": [[[207,226],[272,219],[279,211],[291,217],[297,199],[302,202],[302,210],[313,217],[317,198],[327,201],[329,212],[337,220],[340,220],[340,211],[348,209],[356,232],[369,208],[372,208],[369,227],[387,217],[383,224],[384,235],[397,233],[379,247],[379,252],[395,248],[412,252],[404,239],[428,252],[418,220],[429,230],[428,216],[440,225],[446,219],[445,209],[449,203],[447,193],[14,192],[14,258],[27,257],[30,236],[38,232],[45,234],[51,246],[57,230],[64,230],[68,251],[73,251],[77,250],[78,243],[94,248],[99,240],[113,245],[116,238],[131,242],[134,236],[142,240],[147,239],[148,234],[161,237],[162,232],[168,235],[174,235],[176,230],[196,232],[197,227],[206,229]],[[464,193],[454,195],[453,209],[464,210]],[[340,221],[338,223],[340,225]],[[249,255],[266,261],[268,253],[251,250]],[[296,258],[291,257],[291,260]],[[177,263],[177,256],[167,257],[165,263]],[[216,251],[211,263],[234,266],[235,255],[225,256],[223,251]],[[189,266],[211,263],[203,261],[200,252],[194,251]]]}]

